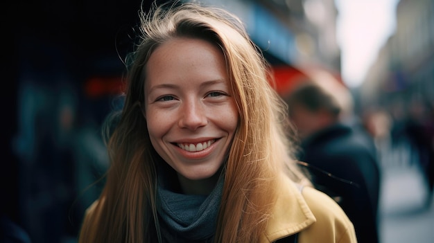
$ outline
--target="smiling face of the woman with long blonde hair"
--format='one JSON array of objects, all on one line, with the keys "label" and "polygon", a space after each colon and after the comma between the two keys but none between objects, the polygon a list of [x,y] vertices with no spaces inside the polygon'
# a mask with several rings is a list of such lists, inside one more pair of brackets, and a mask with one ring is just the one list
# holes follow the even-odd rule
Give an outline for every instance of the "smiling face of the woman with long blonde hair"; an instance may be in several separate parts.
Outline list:
[{"label": "smiling face of the woman with long blonde hair", "polygon": [[146,64],[150,141],[182,177],[202,180],[223,165],[238,124],[225,58],[201,39],[176,38]]}]

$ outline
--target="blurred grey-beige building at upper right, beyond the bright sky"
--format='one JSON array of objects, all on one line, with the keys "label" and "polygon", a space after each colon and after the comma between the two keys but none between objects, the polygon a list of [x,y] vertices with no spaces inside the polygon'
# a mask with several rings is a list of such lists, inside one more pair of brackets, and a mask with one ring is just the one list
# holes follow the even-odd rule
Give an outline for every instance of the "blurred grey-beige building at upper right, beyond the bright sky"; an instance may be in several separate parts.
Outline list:
[{"label": "blurred grey-beige building at upper right, beyond the bright sky", "polygon": [[401,0],[396,33],[383,46],[361,87],[365,109],[434,104],[434,2]]}]

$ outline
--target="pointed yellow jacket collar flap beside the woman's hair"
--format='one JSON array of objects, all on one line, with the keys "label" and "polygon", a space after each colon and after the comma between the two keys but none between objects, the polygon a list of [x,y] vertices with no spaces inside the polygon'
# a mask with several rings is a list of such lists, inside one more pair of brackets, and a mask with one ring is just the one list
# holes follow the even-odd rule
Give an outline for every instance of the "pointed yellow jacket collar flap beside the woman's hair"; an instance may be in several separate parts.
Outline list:
[{"label": "pointed yellow jacket collar flap beside the woman's hair", "polygon": [[279,193],[273,206],[272,215],[260,242],[275,242],[300,232],[316,222],[302,196],[301,189],[297,186],[288,177],[281,179],[282,192]]}]

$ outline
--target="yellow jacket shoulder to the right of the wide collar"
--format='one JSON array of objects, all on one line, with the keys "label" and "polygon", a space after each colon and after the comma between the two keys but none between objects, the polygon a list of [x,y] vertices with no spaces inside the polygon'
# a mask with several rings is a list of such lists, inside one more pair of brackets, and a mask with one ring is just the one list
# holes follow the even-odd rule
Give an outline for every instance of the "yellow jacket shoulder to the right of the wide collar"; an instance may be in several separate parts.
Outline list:
[{"label": "yellow jacket shoulder to the right of the wide collar", "polygon": [[311,187],[304,187],[302,195],[317,220],[300,233],[300,243],[357,242],[353,224],[336,201]]}]

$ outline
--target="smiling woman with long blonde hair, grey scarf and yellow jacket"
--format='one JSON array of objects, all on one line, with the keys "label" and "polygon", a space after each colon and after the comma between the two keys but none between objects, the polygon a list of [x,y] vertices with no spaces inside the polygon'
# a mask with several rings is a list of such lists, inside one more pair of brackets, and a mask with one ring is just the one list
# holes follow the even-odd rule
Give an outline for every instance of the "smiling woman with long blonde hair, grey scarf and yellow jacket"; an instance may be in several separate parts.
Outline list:
[{"label": "smiling woman with long blonde hair, grey scarf and yellow jacket", "polygon": [[193,3],[155,7],[141,20],[125,103],[107,143],[107,182],[79,242],[293,235],[356,242],[345,213],[291,160],[284,105],[241,21]]}]

